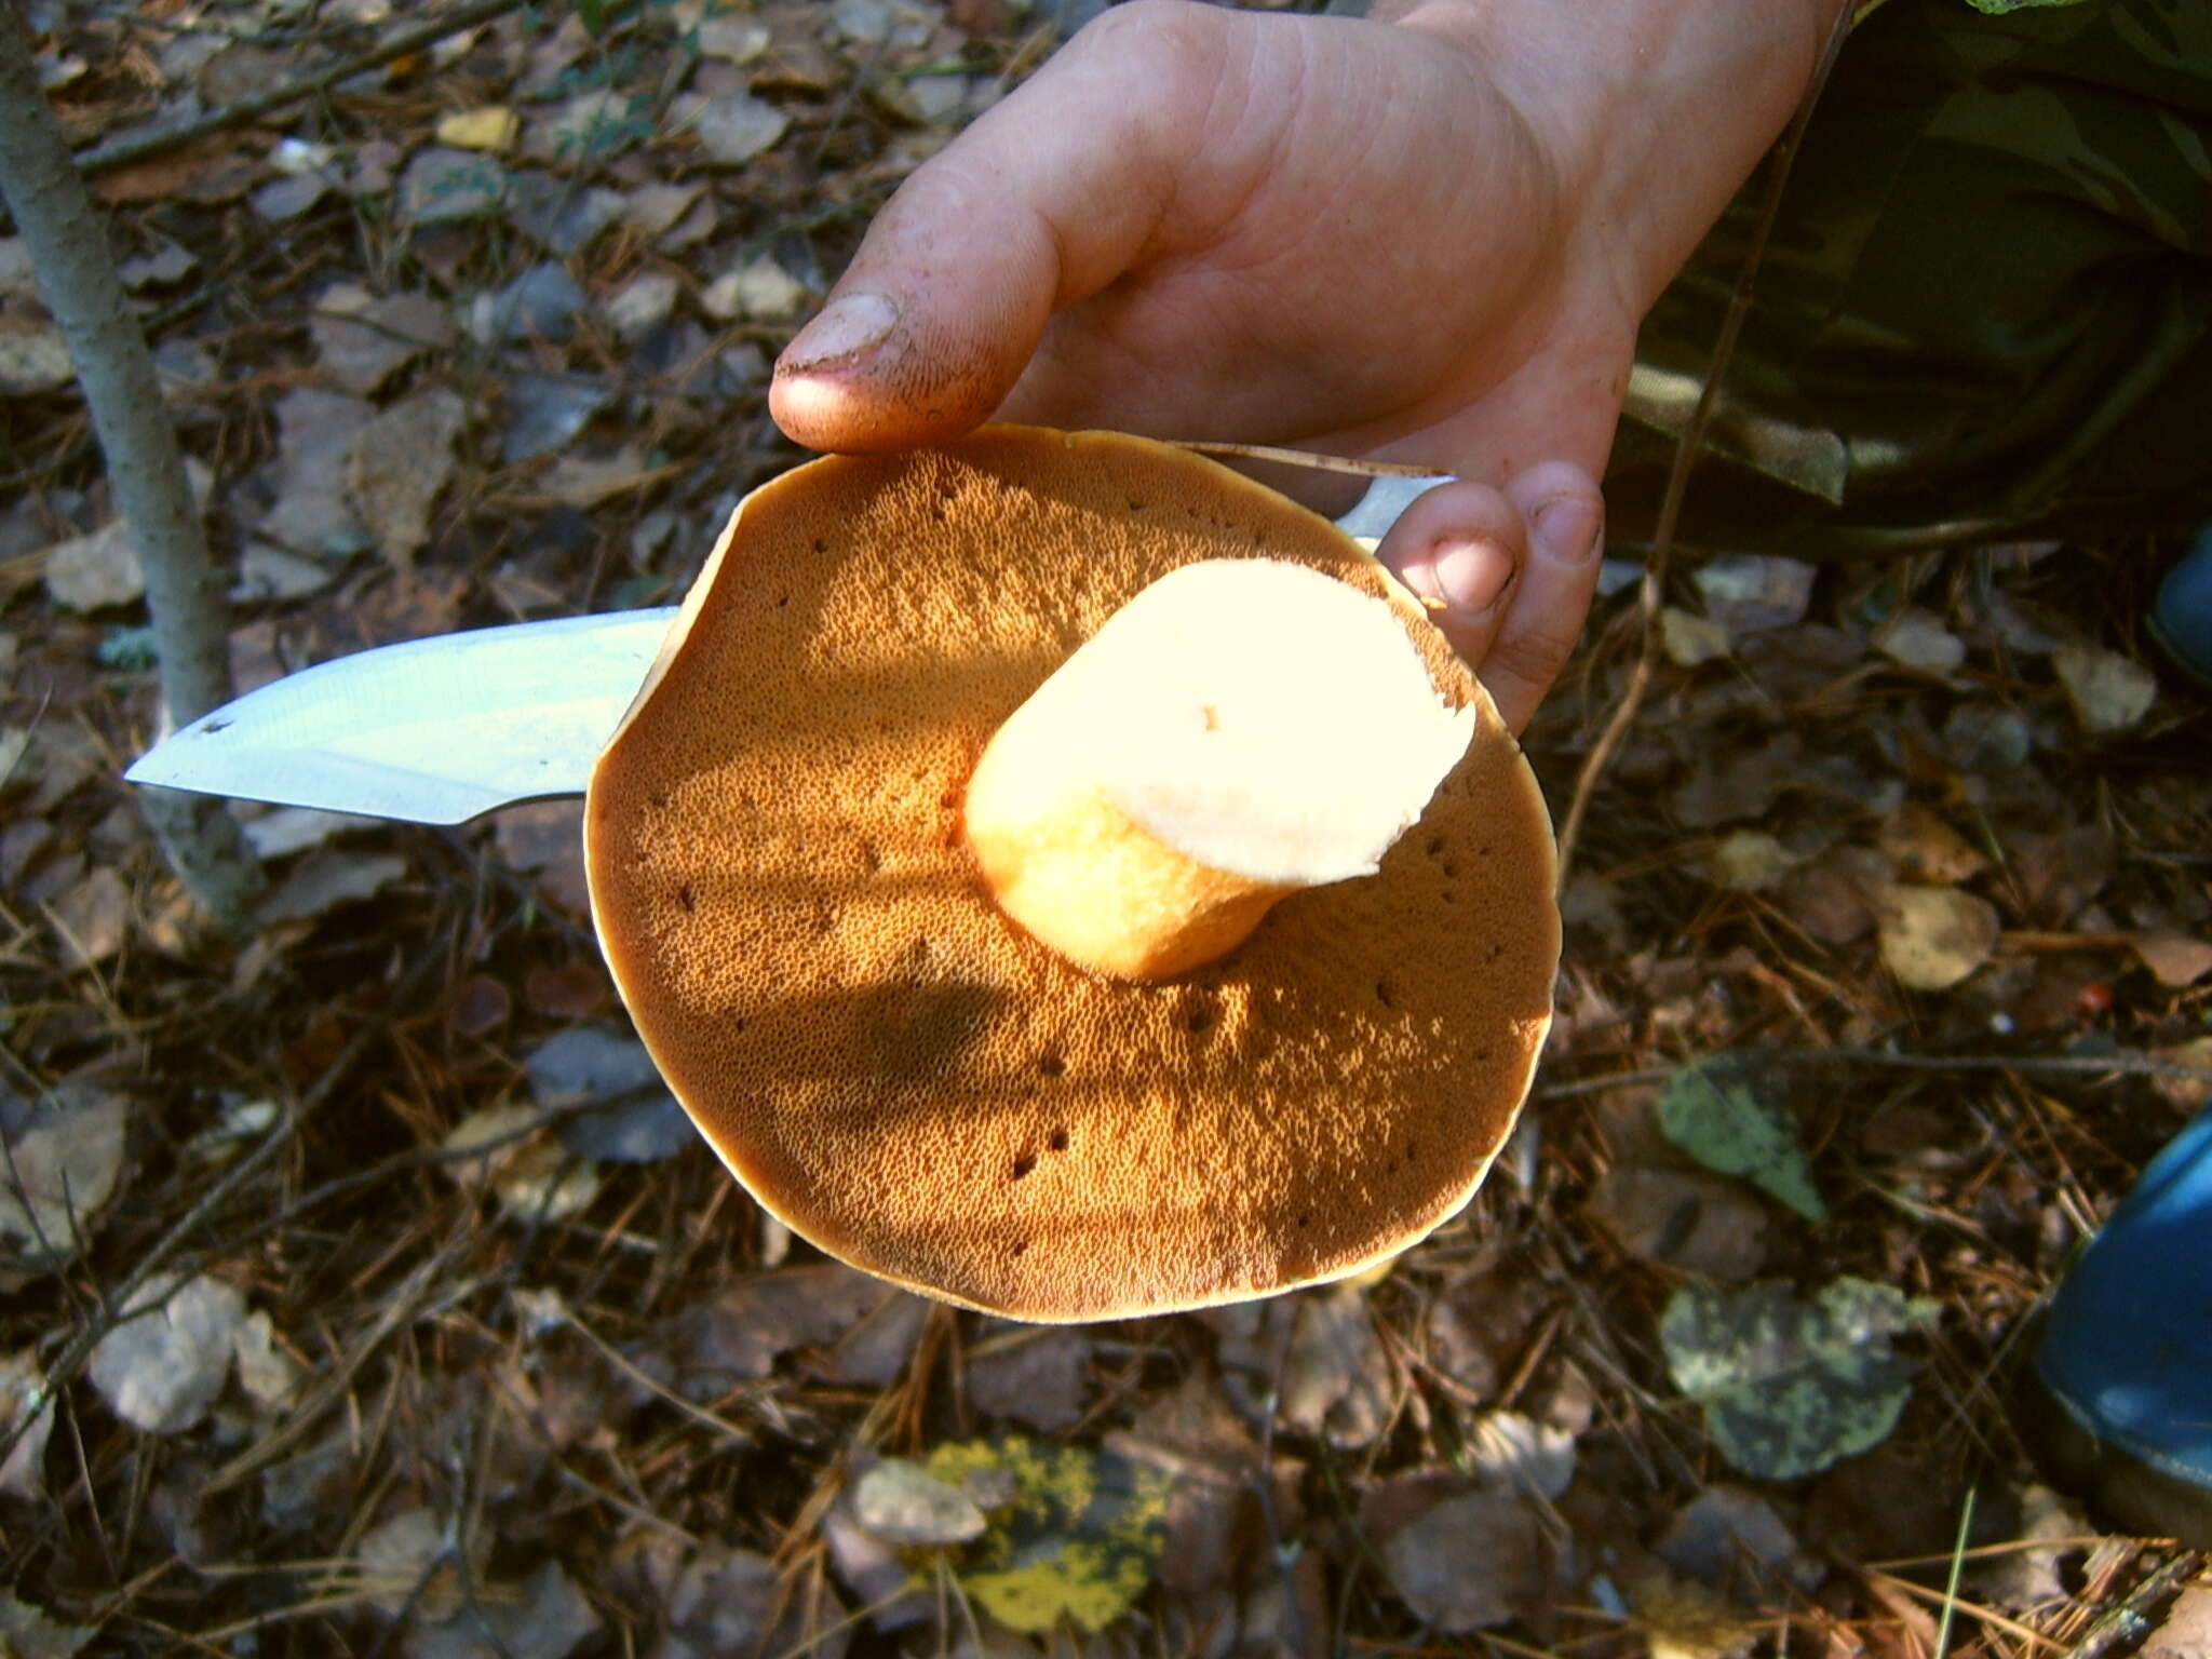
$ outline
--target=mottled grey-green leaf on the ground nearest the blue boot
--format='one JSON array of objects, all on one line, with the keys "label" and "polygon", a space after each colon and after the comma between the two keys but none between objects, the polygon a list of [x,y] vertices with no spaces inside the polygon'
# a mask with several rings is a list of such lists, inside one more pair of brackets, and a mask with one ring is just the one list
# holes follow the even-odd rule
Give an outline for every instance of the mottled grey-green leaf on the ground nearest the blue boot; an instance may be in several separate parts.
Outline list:
[{"label": "mottled grey-green leaf on the ground nearest the blue boot", "polygon": [[1838,1279],[1809,1305],[1781,1283],[1694,1281],[1668,1301],[1659,1343],[1721,1455],[1754,1480],[1796,1480],[1889,1438],[1913,1378],[1889,1338],[1938,1312],[1865,1279]]}]

